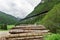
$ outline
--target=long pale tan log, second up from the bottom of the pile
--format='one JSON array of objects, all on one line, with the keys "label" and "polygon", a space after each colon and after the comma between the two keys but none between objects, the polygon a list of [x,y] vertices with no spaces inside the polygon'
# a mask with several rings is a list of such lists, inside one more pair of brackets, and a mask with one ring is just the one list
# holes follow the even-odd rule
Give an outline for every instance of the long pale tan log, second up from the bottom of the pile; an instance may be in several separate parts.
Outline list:
[{"label": "long pale tan log, second up from the bottom of the pile", "polygon": [[41,33],[22,33],[22,34],[10,34],[5,36],[6,38],[16,38],[16,37],[30,37],[30,36],[42,36]]}]

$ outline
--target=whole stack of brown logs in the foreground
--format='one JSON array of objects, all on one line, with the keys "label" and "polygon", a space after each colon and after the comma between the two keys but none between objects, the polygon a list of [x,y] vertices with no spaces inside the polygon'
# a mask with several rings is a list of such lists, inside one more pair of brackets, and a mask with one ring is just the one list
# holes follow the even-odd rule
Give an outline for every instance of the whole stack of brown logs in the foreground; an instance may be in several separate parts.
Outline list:
[{"label": "whole stack of brown logs in the foreground", "polygon": [[6,40],[43,40],[43,35],[49,30],[42,25],[25,25],[12,28]]}]

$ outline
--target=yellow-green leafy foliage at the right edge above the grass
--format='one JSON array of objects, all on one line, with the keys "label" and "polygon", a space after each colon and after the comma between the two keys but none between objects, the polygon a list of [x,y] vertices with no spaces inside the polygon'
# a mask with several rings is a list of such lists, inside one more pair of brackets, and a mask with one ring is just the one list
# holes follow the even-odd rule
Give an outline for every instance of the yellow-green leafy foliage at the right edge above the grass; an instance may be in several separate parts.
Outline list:
[{"label": "yellow-green leafy foliage at the right edge above the grass", "polygon": [[60,32],[60,4],[54,6],[54,8],[47,13],[40,24],[50,29],[52,33]]}]

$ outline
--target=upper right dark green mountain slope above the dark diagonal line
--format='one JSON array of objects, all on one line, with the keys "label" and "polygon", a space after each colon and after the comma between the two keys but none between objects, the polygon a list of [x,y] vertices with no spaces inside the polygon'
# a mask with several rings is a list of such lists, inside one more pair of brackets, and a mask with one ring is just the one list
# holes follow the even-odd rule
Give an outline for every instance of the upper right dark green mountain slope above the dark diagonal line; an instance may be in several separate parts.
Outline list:
[{"label": "upper right dark green mountain slope above the dark diagonal line", "polygon": [[58,3],[60,3],[60,0],[42,0],[42,2],[39,5],[37,5],[37,7],[35,7],[32,13],[30,13],[27,17],[44,11],[49,11],[53,8],[55,4]]}]

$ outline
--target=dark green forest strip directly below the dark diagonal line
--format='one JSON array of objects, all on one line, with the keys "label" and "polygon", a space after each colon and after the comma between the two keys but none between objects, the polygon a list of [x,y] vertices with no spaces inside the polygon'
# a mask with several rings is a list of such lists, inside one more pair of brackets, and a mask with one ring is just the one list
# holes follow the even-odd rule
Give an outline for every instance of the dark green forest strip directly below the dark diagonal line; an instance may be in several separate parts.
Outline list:
[{"label": "dark green forest strip directly below the dark diagonal line", "polygon": [[19,24],[35,24],[35,22],[40,21],[39,19],[42,19],[45,15],[46,14],[43,14],[43,15],[39,15],[33,18],[23,20]]}]

